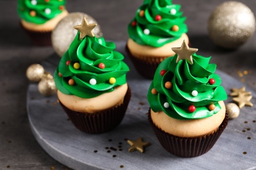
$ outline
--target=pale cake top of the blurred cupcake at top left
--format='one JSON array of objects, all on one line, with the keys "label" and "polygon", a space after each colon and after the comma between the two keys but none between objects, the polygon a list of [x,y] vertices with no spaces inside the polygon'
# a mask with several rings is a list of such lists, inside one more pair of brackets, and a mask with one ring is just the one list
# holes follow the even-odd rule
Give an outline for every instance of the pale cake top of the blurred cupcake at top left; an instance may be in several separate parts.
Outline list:
[{"label": "pale cake top of the blurred cupcake at top left", "polygon": [[58,14],[58,16],[45,22],[45,24],[34,24],[31,22],[26,22],[25,20],[21,20],[20,22],[26,29],[29,29],[32,31],[52,31],[54,27],[56,27],[58,22],[62,20],[62,18],[64,18],[65,16],[68,16],[67,10],[64,10],[63,12]]}]

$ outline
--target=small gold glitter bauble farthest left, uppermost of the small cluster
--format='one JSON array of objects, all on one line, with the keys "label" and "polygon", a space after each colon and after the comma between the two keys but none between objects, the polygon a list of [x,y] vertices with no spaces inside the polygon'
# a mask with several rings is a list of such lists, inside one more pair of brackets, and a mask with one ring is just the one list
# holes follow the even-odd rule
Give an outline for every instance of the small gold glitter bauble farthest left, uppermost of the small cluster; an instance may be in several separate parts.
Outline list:
[{"label": "small gold glitter bauble farthest left, uppermost of the small cluster", "polygon": [[26,71],[28,80],[32,82],[39,82],[45,73],[45,69],[40,64],[32,64]]}]

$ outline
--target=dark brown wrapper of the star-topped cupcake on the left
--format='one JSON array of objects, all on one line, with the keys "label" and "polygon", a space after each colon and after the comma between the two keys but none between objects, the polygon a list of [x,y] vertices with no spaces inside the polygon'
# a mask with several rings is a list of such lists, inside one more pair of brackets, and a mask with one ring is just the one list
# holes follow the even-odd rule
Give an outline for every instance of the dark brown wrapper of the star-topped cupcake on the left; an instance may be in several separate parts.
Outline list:
[{"label": "dark brown wrapper of the star-topped cupcake on the left", "polygon": [[66,114],[68,114],[68,117],[77,129],[85,133],[97,134],[110,131],[121,123],[130,99],[131,90],[128,88],[121,105],[93,114],[87,112],[75,112],[74,110],[65,107],[62,103],[60,103],[60,105],[65,110]]}]

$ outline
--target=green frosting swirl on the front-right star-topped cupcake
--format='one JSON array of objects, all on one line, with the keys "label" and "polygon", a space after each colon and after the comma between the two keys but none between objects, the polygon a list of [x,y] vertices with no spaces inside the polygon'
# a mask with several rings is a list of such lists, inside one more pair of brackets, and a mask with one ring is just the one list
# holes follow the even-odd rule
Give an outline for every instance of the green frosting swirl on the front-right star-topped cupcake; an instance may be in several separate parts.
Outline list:
[{"label": "green frosting swirl on the front-right star-topped cupcake", "polygon": [[[209,64],[209,58],[204,58],[197,54],[192,55],[193,65],[186,60],[176,63],[175,56],[164,59],[156,73],[154,80],[148,90],[148,102],[154,112],[163,110],[165,114],[179,120],[207,118],[221,110],[218,101],[227,99],[226,92],[221,85],[221,78],[215,74],[216,65]],[[166,73],[161,76],[160,72]],[[209,84],[209,79],[215,80],[214,84]],[[165,88],[165,82],[170,81],[171,89]],[[151,92],[152,88],[157,90],[157,94]],[[198,95],[193,96],[192,91],[198,91]],[[165,108],[164,103],[169,103]],[[209,110],[208,106],[214,104],[215,109]],[[189,112],[188,107],[194,105],[196,110]]]}]

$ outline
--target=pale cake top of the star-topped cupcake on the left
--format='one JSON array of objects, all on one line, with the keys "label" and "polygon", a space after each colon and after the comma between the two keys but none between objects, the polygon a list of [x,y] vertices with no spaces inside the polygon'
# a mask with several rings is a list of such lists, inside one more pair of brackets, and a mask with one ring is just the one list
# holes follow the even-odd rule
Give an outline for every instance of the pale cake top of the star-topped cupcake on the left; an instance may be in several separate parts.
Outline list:
[{"label": "pale cake top of the star-topped cupcake on the left", "polygon": [[94,113],[121,105],[127,90],[128,85],[126,83],[117,86],[112,92],[103,93],[102,95],[89,99],[77,97],[76,95],[66,95],[59,90],[57,95],[60,102],[70,110]]}]

